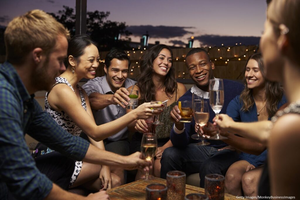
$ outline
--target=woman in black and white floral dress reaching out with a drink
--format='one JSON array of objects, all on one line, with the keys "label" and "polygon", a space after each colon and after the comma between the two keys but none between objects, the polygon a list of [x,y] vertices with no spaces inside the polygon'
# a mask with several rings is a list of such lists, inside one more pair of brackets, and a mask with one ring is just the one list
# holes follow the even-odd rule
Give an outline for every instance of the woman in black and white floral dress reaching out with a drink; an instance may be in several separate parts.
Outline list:
[{"label": "woman in black and white floral dress reaching out with a drink", "polygon": [[[69,133],[79,136],[83,131],[91,144],[104,149],[103,139],[122,130],[137,119],[153,116],[150,103],[140,105],[134,111],[115,121],[97,126],[93,118],[88,96],[78,85],[82,78],[95,78],[99,66],[99,52],[88,35],[77,35],[70,39],[68,46],[68,68],[56,78],[56,83],[45,97],[45,110]],[[161,105],[157,105],[159,107]],[[154,114],[159,111],[155,111]],[[99,142],[100,141],[100,142]],[[39,150],[38,150],[39,151]],[[38,156],[52,150],[35,152]],[[110,168],[91,163],[74,162],[75,169],[70,177],[69,188],[82,185],[89,190],[98,191],[120,185],[120,178],[110,173]],[[102,185],[102,186],[101,186]]]}]

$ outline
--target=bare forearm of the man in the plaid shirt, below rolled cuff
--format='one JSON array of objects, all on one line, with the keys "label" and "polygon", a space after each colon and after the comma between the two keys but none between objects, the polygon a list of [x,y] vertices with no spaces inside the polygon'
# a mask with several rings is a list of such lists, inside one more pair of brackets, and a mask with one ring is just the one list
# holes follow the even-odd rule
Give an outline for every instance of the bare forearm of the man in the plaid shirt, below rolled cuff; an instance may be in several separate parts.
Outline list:
[{"label": "bare forearm of the man in the plaid shirt, below rolled cuff", "polygon": [[86,152],[82,161],[107,166],[122,167],[125,164],[125,157],[109,151],[104,151],[95,147],[94,145],[89,145],[88,151]]}]

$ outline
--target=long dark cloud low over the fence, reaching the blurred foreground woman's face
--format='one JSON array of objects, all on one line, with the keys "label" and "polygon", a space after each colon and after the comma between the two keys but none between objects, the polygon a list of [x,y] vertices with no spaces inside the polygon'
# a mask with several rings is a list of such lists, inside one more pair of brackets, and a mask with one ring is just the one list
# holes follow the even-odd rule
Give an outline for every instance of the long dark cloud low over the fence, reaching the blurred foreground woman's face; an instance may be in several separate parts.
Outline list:
[{"label": "long dark cloud low over the fence, reaching the blurred foreground woman's face", "polygon": [[199,40],[202,45],[211,46],[232,46],[235,43],[242,43],[243,45],[256,45],[259,44],[260,37],[254,36],[222,36],[222,35],[200,35],[196,36],[194,40]]}]

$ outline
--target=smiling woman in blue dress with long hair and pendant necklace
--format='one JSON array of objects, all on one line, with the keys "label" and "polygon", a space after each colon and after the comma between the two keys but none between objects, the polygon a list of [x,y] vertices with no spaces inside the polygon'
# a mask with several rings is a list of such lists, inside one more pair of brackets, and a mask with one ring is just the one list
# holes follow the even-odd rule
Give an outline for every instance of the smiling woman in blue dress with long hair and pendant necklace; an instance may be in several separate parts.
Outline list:
[{"label": "smiling woman in blue dress with long hair and pendant necklace", "polygon": [[[286,103],[283,88],[278,82],[265,79],[261,53],[250,56],[244,68],[245,88],[228,105],[226,114],[234,121],[253,122],[270,120],[278,108]],[[257,186],[262,173],[267,150],[260,155],[241,152],[225,179],[226,192],[232,195],[257,196]]]}]

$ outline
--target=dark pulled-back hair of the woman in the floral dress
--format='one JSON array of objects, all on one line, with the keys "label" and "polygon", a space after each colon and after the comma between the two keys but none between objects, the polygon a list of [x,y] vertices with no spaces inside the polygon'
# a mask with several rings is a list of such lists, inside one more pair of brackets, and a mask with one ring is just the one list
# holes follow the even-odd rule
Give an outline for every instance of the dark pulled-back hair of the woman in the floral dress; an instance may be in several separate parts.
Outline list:
[{"label": "dark pulled-back hair of the woman in the floral dress", "polygon": [[94,44],[97,46],[91,37],[87,34],[76,35],[69,40],[68,57],[65,60],[65,66],[69,66],[69,56],[72,55],[77,62],[80,62],[79,57],[84,54],[85,47]]}]

